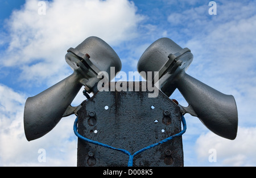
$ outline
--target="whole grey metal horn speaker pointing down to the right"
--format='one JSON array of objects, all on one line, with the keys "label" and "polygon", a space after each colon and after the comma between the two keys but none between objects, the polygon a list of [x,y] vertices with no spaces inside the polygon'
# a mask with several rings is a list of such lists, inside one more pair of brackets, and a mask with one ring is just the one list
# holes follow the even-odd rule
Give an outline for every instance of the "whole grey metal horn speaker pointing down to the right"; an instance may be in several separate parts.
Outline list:
[{"label": "whole grey metal horn speaker pointing down to the right", "polygon": [[[237,105],[232,95],[225,95],[185,73],[193,60],[188,48],[181,48],[168,38],[156,40],[142,54],[138,72],[159,72],[159,78],[152,76],[151,82],[159,82],[159,89],[168,97],[176,88],[187,100],[189,106],[181,112],[198,117],[213,133],[228,139],[235,139],[238,127]],[[148,77],[147,77],[148,78]],[[145,78],[145,79],[147,79]],[[151,77],[150,77],[151,78]]]}]

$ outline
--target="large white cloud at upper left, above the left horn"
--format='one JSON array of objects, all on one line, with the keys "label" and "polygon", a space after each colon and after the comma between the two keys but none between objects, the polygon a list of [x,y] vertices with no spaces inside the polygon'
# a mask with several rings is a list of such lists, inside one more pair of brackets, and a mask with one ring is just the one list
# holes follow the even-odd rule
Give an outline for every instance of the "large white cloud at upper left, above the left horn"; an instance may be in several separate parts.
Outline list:
[{"label": "large white cloud at upper left, above the left horn", "polygon": [[46,15],[38,14],[38,2],[27,0],[7,19],[10,42],[1,64],[18,67],[21,80],[39,84],[71,73],[64,60],[68,48],[89,36],[118,45],[138,35],[143,19],[126,0],[46,1]]}]

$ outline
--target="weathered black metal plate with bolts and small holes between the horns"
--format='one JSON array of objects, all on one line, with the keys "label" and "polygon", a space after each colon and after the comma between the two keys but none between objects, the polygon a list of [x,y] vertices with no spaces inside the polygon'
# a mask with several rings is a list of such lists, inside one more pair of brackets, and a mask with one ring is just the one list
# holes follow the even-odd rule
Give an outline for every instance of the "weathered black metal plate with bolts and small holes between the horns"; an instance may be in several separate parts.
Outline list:
[{"label": "weathered black metal plate with bolts and small holes between the horns", "polygon": [[[135,86],[136,82],[129,82]],[[137,83],[138,84],[138,83]],[[139,82],[143,86],[146,82]],[[170,116],[168,112],[170,111]],[[94,116],[95,113],[95,116]],[[97,92],[78,112],[79,133],[93,141],[105,143],[131,154],[181,132],[180,108],[159,91],[148,98],[148,91]],[[127,166],[129,156],[123,152],[86,143],[79,139],[77,166]],[[134,156],[133,166],[183,166],[182,137]]]}]

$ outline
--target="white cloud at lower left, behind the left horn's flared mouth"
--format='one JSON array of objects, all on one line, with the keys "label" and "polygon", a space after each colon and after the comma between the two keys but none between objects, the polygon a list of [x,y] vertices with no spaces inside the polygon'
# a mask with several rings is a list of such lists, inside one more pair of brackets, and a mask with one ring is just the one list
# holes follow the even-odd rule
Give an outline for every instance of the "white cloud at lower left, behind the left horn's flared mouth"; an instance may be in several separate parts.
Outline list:
[{"label": "white cloud at lower left, behind the left horn's flared mouth", "polygon": [[[0,166],[76,166],[74,116],[63,118],[51,133],[28,142],[24,135],[26,96],[0,84]],[[46,163],[38,150],[46,150]]]}]

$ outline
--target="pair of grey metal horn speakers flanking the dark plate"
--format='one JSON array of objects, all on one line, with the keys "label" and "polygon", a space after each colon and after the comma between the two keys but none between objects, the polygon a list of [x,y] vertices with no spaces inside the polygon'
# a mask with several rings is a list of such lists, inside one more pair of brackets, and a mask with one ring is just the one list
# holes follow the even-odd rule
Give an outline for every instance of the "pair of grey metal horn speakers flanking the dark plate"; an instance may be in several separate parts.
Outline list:
[{"label": "pair of grey metal horn speakers flanking the dark plate", "polygon": [[[106,71],[111,77],[110,67],[115,67],[115,74],[122,68],[118,55],[98,37],[88,37],[76,48],[70,48],[65,60],[72,67],[73,74],[26,101],[24,130],[28,141],[42,137],[62,117],[75,113],[78,108],[71,107],[73,99],[82,86],[87,92],[97,91],[95,87],[101,80],[98,78],[100,71]],[[138,71],[158,72],[159,77],[151,76],[152,81],[149,82],[159,82],[159,90],[168,97],[177,88],[189,104],[187,108],[179,105],[183,114],[198,117],[209,130],[221,137],[235,139],[238,116],[234,97],[186,74],[192,60],[193,55],[188,48],[182,49],[174,41],[162,38],[142,54]]]}]

